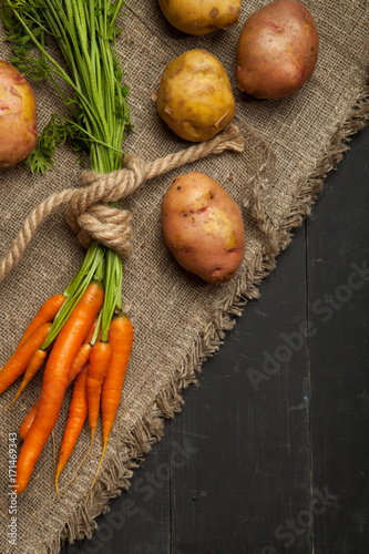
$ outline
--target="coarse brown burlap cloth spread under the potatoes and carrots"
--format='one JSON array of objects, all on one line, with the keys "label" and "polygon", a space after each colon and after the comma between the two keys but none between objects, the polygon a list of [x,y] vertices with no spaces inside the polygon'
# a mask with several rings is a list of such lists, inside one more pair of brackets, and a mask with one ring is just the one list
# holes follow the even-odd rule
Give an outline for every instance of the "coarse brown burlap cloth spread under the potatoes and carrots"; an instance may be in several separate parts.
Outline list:
[{"label": "coarse brown burlap cloth spread under the potatoes and carrots", "polygon": [[[321,191],[327,173],[337,165],[350,136],[365,125],[368,102],[369,7],[365,0],[304,0],[316,19],[320,51],[311,79],[296,94],[280,101],[257,101],[237,90],[235,49],[242,23],[265,0],[244,2],[240,24],[207,37],[176,32],[156,0],[127,0],[119,53],[126,82],[134,131],[124,150],[151,162],[188,146],[158,119],[152,101],[166,63],[192,48],[212,51],[225,65],[236,100],[234,124],[244,138],[244,152],[224,152],[146,181],[122,207],[133,220],[132,254],[124,258],[123,298],[135,340],[121,407],[101,476],[89,502],[84,499],[101,453],[100,432],[93,451],[73,485],[54,497],[53,443],[49,440],[27,491],[17,502],[17,546],[9,543],[11,497],[10,433],[17,433],[38,398],[41,376],[9,410],[1,413],[0,552],[58,553],[62,541],[90,535],[93,519],[109,500],[127,489],[134,468],[163,433],[165,418],[182,408],[181,391],[196,381],[202,362],[214,353],[257,285],[287,247],[291,230],[301,224]],[[1,43],[0,58],[10,54]],[[47,83],[34,84],[39,129],[62,106]],[[202,283],[176,265],[164,245],[160,206],[173,178],[197,170],[212,175],[243,206],[246,226],[245,259],[234,279],[223,286]],[[50,194],[76,187],[81,167],[63,146],[45,176],[20,167],[2,170],[0,195],[0,256],[9,249],[30,212]],[[349,206],[348,206],[349,209]],[[0,285],[0,363],[13,351],[28,321],[49,296],[63,291],[83,259],[83,248],[65,220],[65,207],[39,227],[18,265]],[[6,406],[11,387],[1,398]],[[66,420],[70,391],[64,399],[54,444],[58,453]],[[88,425],[65,468],[65,484],[90,442]],[[17,441],[20,449],[20,439]]]}]

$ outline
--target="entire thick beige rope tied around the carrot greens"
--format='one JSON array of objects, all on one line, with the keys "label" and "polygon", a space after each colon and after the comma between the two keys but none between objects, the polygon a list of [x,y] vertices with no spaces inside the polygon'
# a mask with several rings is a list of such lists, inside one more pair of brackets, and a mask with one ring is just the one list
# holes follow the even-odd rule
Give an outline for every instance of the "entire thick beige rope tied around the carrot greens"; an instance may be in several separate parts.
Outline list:
[{"label": "entire thick beige rope tied around the carrot greens", "polygon": [[86,247],[91,240],[95,240],[116,250],[121,256],[129,254],[132,250],[130,212],[101,203],[116,202],[136,191],[146,179],[226,150],[244,150],[239,130],[233,124],[208,142],[189,146],[151,163],[145,163],[135,155],[126,155],[123,170],[107,174],[83,172],[80,178],[82,188],[69,188],[52,194],[24,220],[13,244],[0,261],[0,281],[18,263],[37,228],[52,212],[65,204],[69,204],[68,223],[83,246]]}]

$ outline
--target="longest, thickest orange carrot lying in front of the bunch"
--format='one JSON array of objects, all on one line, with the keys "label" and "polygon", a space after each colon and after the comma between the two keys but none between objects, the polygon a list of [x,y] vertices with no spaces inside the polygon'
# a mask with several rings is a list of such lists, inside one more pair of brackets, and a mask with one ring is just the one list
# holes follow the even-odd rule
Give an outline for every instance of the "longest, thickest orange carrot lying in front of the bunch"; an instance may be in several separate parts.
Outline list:
[{"label": "longest, thickest orange carrot lying in front of the bunch", "polygon": [[57,423],[70,368],[102,307],[103,299],[103,285],[91,281],[55,339],[44,370],[38,411],[18,456],[18,494],[27,488],[34,464]]}]

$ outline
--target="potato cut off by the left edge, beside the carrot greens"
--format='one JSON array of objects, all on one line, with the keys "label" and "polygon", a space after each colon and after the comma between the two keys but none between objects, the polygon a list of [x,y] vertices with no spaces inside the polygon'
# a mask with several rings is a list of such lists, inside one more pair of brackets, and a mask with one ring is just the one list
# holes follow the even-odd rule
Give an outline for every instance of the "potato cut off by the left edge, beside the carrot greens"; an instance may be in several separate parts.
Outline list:
[{"label": "potato cut off by the left edge, beside the carrot greens", "polygon": [[18,69],[0,61],[0,167],[24,160],[37,140],[33,91]]}]

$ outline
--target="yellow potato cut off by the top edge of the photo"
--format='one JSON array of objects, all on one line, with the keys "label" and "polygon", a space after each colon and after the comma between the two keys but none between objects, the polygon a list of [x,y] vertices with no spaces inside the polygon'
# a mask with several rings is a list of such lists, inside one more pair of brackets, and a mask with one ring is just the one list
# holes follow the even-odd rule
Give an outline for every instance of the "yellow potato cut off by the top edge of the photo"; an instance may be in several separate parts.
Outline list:
[{"label": "yellow potato cut off by the top edge of the photo", "polygon": [[238,21],[242,0],[158,0],[168,22],[188,34],[208,34]]}]

